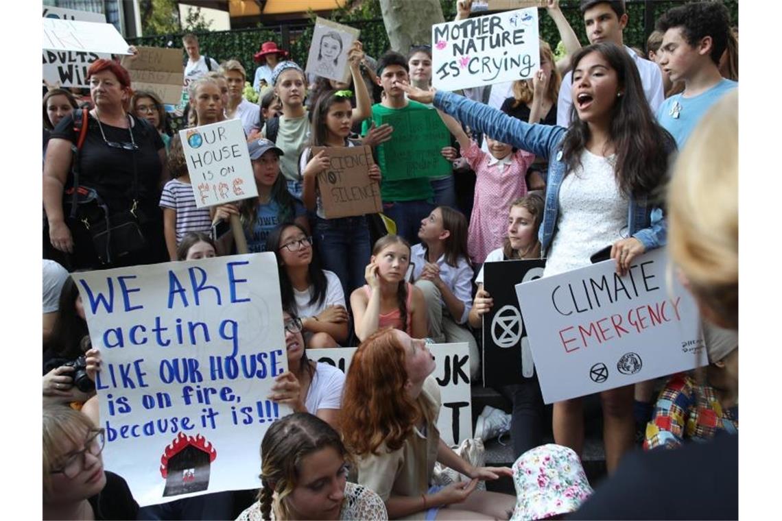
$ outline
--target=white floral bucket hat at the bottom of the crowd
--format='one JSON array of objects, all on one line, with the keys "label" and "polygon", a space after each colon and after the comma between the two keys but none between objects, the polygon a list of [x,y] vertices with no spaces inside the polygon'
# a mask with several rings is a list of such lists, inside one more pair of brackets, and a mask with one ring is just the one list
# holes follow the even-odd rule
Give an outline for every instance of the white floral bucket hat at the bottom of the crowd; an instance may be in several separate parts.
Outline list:
[{"label": "white floral bucket hat at the bottom of the crowd", "polygon": [[592,487],[572,448],[540,445],[513,464],[516,508],[511,521],[561,519],[590,497]]}]

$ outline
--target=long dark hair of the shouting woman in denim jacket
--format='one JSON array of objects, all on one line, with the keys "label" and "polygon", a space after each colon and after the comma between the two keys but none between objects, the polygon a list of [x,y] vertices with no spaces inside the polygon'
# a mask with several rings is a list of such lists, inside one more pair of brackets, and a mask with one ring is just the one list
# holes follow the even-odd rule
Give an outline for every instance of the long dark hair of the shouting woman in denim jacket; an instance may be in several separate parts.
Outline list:
[{"label": "long dark hair of the shouting woman in denim jacket", "polygon": [[[615,70],[622,89],[622,95],[615,98],[609,128],[609,138],[616,150],[614,171],[619,190],[635,197],[654,194],[665,180],[669,155],[676,151],[676,141],[651,113],[638,70],[626,50],[610,42],[588,45],[573,55],[573,70],[590,52],[603,56]],[[569,172],[579,165],[581,152],[590,137],[589,126],[579,119],[576,105],[570,110],[570,127],[562,141],[562,155]]]}]

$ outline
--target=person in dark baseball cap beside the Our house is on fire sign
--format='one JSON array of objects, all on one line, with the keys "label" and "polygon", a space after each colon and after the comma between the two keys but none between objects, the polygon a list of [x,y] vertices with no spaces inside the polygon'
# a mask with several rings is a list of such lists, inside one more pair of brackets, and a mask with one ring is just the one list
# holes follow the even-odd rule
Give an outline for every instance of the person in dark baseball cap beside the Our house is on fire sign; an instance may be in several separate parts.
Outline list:
[{"label": "person in dark baseball cap beside the Our house is on fire sign", "polygon": [[258,253],[266,251],[266,237],[278,224],[293,221],[305,230],[310,230],[310,224],[307,210],[289,193],[285,177],[280,173],[282,149],[261,138],[250,141],[247,150],[258,197],[217,206],[213,223],[228,222],[232,215],[239,216],[248,251]]}]

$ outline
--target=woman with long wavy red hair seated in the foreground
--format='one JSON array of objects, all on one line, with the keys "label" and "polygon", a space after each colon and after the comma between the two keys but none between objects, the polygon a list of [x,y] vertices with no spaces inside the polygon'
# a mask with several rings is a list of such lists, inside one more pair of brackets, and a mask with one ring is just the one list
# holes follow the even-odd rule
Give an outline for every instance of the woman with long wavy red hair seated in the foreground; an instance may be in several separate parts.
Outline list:
[{"label": "woman with long wavy red hair seated in the foreground", "polygon": [[[475,486],[511,476],[511,469],[472,466],[439,437],[435,367],[425,341],[401,330],[380,330],[358,347],[340,412],[345,444],[356,455],[357,483],[386,502],[389,519],[509,519],[513,496]],[[436,461],[471,481],[432,487]]]}]

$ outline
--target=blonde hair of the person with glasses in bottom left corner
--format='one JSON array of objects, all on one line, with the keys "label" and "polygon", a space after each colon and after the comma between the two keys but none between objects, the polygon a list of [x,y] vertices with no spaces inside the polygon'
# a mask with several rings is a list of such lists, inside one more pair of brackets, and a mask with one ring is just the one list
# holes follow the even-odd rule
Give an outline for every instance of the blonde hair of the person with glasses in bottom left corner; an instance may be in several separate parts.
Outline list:
[{"label": "blonde hair of the person with glasses in bottom left corner", "polygon": [[84,444],[86,434],[95,429],[91,419],[67,405],[47,405],[43,419],[44,498],[52,493],[52,470],[60,463],[63,446],[70,441],[76,447]]}]

